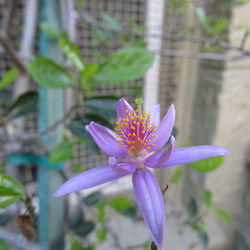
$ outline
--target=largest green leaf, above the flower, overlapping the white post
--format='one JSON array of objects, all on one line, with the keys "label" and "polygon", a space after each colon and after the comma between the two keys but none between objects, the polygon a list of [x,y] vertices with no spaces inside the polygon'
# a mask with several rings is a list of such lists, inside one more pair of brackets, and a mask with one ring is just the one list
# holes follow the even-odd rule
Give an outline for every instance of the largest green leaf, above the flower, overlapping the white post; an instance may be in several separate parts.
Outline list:
[{"label": "largest green leaf, above the flower, overlapping the white post", "polygon": [[122,83],[141,78],[151,67],[154,54],[143,48],[124,48],[113,53],[94,75],[98,83]]}]

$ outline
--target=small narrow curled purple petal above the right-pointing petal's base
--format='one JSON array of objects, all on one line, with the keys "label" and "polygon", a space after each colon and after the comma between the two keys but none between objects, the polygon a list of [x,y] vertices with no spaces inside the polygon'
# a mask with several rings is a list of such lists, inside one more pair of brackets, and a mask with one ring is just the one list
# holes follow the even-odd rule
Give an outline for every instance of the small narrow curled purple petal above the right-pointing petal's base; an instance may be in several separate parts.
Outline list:
[{"label": "small narrow curled purple petal above the right-pointing petal's base", "polygon": [[168,146],[167,150],[151,155],[146,159],[144,164],[151,168],[155,168],[159,165],[164,164],[174,152],[175,144],[175,138],[174,136],[171,136],[170,145]]}]

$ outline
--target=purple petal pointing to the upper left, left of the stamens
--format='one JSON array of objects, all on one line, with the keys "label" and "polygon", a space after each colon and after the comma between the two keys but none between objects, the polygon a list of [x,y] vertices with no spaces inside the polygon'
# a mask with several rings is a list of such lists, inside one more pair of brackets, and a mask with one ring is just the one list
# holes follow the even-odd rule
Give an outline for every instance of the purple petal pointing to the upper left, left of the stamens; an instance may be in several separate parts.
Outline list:
[{"label": "purple petal pointing to the upper left, left of the stamens", "polygon": [[95,122],[91,122],[85,128],[104,153],[121,158],[126,156],[127,150],[118,147],[117,138],[112,130]]}]

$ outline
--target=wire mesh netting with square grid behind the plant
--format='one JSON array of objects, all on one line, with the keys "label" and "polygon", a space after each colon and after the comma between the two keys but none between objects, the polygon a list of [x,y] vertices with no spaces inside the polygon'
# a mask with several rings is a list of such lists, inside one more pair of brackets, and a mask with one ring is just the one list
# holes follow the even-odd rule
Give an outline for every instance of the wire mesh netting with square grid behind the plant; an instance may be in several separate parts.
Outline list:
[{"label": "wire mesh netting with square grid behind the plant", "polygon": [[[8,1],[0,1],[0,20],[1,28],[4,25],[4,19],[6,18],[5,13],[8,11]],[[10,34],[10,40],[16,50],[19,50],[21,32],[23,30],[23,19],[24,19],[24,5],[25,1],[19,1],[18,8],[16,9],[15,19],[13,21],[13,27]],[[164,15],[164,26],[163,31],[170,31],[180,29],[182,24],[181,16],[173,14],[169,6],[165,6],[166,14]],[[107,13],[114,17],[123,27],[129,27],[131,23],[137,26],[145,26],[146,23],[146,11],[147,1],[146,0],[100,0],[100,1],[85,1],[84,11],[89,13],[96,19],[100,19],[101,13]],[[110,55],[114,50],[119,47],[117,42],[110,42],[103,46],[98,43],[91,25],[84,22],[83,19],[77,18],[76,25],[76,38],[75,42],[79,46],[82,55],[87,63],[89,62],[100,62],[103,57]],[[157,27],[156,27],[157,31]],[[38,34],[39,30],[37,30]],[[119,39],[116,39],[116,41]],[[37,41],[34,44],[34,51],[37,51]],[[178,47],[177,42],[163,41],[162,47],[164,49],[176,49]],[[11,67],[13,62],[8,58],[3,48],[0,47],[0,75],[3,76]],[[101,55],[101,56],[100,56]],[[165,112],[168,106],[175,99],[175,91],[177,83],[175,76],[178,74],[178,64],[175,57],[162,56],[160,66],[160,86],[159,86],[159,103],[162,105],[162,112]],[[153,84],[153,83],[152,83]],[[14,89],[18,86],[12,86],[8,89],[8,92],[12,92],[14,96]],[[133,102],[137,95],[141,95],[144,87],[144,79],[136,81],[126,82],[126,84],[102,84],[98,86],[94,92],[94,95],[118,95],[126,96],[129,101]],[[34,85],[30,83],[30,89],[34,88]],[[6,95],[6,94],[4,94]],[[67,106],[67,104],[66,104]],[[3,109],[0,109],[3,112]],[[79,113],[84,112],[83,108],[79,108]],[[24,132],[34,132],[37,128],[37,115],[28,115],[24,119]],[[84,129],[84,128],[83,128]],[[92,168],[96,165],[100,165],[106,162],[106,156],[90,154],[87,150],[87,145],[78,144],[75,149],[74,159],[69,165],[81,164],[86,168]],[[37,152],[37,145],[26,145],[22,147],[22,152],[34,151]],[[3,163],[3,159],[1,159]]]}]

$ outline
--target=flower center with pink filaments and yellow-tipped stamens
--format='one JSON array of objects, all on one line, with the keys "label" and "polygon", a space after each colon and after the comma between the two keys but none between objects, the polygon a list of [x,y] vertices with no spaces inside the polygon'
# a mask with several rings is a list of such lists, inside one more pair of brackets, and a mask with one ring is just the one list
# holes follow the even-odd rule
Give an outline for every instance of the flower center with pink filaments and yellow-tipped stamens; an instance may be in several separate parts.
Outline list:
[{"label": "flower center with pink filaments and yellow-tipped stamens", "polygon": [[152,124],[148,113],[141,113],[140,109],[129,113],[116,121],[116,135],[119,137],[118,146],[128,149],[137,157],[142,150],[149,150],[156,145],[151,143],[157,131],[156,124]]}]

